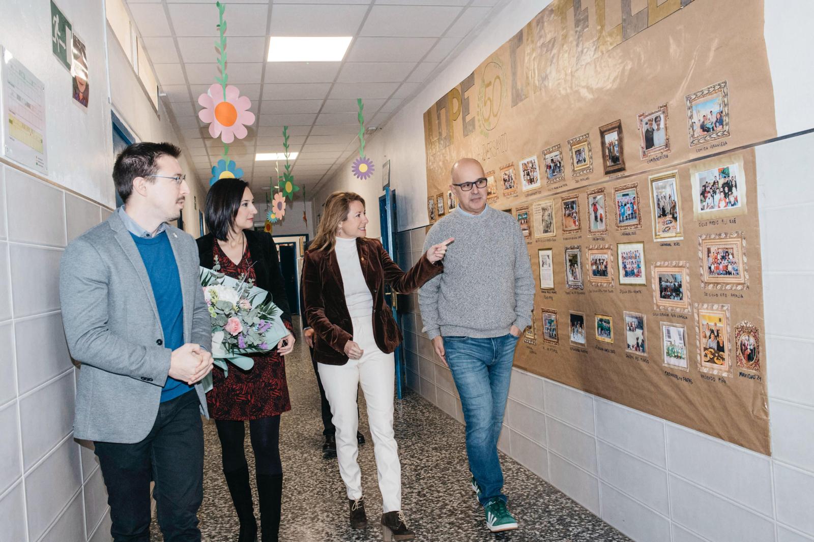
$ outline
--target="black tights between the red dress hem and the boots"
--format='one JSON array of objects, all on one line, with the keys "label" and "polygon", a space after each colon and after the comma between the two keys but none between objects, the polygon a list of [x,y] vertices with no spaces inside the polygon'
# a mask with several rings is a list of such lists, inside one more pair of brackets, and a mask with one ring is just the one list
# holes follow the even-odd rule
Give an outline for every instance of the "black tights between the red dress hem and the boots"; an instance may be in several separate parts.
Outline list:
[{"label": "black tights between the red dress hem and the boots", "polygon": [[[246,435],[243,422],[215,420],[215,426],[223,450],[223,471],[234,472],[247,466],[246,451],[243,448]],[[282,474],[279,415],[250,420],[249,436],[255,452],[257,474]]]}]

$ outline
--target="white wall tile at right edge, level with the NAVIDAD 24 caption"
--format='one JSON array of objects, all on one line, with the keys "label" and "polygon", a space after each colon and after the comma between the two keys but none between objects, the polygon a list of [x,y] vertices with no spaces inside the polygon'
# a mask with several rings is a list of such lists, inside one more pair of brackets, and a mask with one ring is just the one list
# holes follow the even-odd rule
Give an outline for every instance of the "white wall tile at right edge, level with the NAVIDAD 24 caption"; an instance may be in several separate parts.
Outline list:
[{"label": "white wall tile at right edge, level with the NAVIDAD 24 caption", "polygon": [[768,396],[814,407],[814,343],[769,336],[765,348]]}]

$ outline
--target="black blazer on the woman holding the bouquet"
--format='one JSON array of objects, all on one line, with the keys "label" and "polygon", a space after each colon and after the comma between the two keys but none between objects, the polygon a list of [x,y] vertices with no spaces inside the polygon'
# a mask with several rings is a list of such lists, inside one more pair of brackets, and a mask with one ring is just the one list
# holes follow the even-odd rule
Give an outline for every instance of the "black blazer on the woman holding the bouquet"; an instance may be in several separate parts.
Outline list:
[{"label": "black blazer on the woman holding the bouquet", "polygon": [[[246,234],[246,244],[254,262],[255,285],[269,292],[271,300],[282,311],[282,315],[280,315],[282,320],[291,324],[291,308],[288,305],[286,283],[282,280],[282,273],[280,273],[280,260],[274,238],[265,232],[252,231],[251,229],[244,229],[243,234]],[[197,238],[196,243],[198,243],[198,256],[201,267],[212,269],[215,264],[212,257],[215,236],[206,234],[204,237]]]}]

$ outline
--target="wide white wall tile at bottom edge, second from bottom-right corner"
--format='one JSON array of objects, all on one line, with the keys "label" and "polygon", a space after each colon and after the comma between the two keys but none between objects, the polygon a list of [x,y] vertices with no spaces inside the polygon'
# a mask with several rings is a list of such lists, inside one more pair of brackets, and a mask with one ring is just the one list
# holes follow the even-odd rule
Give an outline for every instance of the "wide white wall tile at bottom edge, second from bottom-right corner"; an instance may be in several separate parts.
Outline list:
[{"label": "wide white wall tile at bottom edge, second from bottom-right corner", "polygon": [[716,542],[771,542],[774,524],[729,500],[670,476],[672,521]]}]

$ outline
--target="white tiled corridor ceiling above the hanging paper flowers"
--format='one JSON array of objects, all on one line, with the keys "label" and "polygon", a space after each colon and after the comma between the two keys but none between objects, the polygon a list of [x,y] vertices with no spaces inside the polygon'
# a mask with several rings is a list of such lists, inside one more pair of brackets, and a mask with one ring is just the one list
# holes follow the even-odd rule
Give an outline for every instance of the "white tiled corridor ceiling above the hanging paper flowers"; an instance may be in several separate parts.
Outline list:
[{"label": "white tiled corridor ceiling above the hanging paper flowers", "polygon": [[[198,177],[211,177],[222,152],[197,112],[217,75],[215,2],[127,0]],[[244,177],[269,186],[289,126],[295,181],[309,191],[359,149],[356,98],[365,126],[382,126],[422,88],[475,28],[505,0],[238,0],[226,2],[229,82],[252,99],[256,122],[230,145]],[[342,62],[267,63],[268,37],[353,36]],[[282,167],[282,164],[281,164]]]}]

